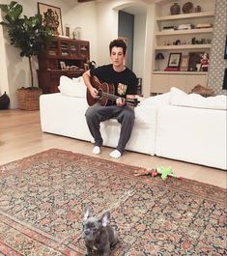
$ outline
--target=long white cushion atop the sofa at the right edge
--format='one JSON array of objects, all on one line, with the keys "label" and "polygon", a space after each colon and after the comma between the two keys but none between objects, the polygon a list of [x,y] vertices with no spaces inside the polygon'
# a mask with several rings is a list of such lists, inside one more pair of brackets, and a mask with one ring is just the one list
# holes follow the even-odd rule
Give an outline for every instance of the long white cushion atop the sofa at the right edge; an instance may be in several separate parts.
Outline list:
[{"label": "long white cushion atop the sofa at the right edge", "polygon": [[187,95],[176,87],[172,87],[170,91],[170,104],[178,106],[226,110],[226,99],[227,98],[224,95],[218,95],[208,98],[205,98],[198,94]]}]

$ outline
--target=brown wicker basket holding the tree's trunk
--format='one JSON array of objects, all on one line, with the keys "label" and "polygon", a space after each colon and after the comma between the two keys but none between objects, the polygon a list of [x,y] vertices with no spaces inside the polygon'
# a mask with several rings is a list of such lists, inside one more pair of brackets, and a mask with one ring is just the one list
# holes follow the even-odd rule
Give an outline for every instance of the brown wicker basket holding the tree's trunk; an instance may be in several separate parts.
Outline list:
[{"label": "brown wicker basket holding the tree's trunk", "polygon": [[40,88],[22,88],[16,91],[19,108],[23,110],[39,110],[40,96],[43,91]]}]

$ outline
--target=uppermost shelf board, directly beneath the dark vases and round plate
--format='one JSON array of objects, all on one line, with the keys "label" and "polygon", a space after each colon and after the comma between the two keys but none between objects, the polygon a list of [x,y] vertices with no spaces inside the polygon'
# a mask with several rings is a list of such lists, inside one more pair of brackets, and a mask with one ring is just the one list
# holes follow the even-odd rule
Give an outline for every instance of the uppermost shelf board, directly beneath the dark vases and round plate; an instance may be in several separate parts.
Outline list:
[{"label": "uppermost shelf board, directly beneath the dark vases and round plate", "polygon": [[177,20],[177,19],[187,19],[187,18],[200,18],[200,17],[212,17],[214,12],[202,12],[193,14],[177,14],[177,15],[166,15],[156,17],[156,21],[164,20]]}]

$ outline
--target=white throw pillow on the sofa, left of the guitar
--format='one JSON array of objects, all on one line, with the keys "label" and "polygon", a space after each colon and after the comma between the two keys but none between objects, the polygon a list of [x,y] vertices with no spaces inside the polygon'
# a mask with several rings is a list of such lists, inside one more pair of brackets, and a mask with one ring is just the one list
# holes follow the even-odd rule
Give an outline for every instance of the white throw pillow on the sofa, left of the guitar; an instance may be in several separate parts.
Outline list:
[{"label": "white throw pillow on the sofa, left of the guitar", "polygon": [[82,76],[72,79],[65,75],[60,77],[60,85],[58,86],[58,89],[62,95],[86,98],[86,88]]}]

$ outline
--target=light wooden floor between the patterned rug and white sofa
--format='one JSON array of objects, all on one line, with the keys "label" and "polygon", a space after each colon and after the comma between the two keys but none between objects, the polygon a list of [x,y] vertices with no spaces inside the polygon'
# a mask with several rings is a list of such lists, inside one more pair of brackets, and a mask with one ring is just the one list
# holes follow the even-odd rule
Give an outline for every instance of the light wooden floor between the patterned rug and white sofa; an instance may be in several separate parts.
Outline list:
[{"label": "light wooden floor between the patterned rug and white sofa", "polygon": [[[39,111],[0,110],[0,164],[51,148],[94,156],[91,143],[43,133]],[[112,159],[108,156],[111,150],[103,148],[101,155],[96,157],[140,167],[172,166],[177,176],[227,187],[227,172],[223,170],[132,152],[126,152],[120,159]]]}]

